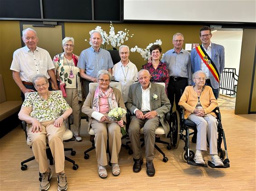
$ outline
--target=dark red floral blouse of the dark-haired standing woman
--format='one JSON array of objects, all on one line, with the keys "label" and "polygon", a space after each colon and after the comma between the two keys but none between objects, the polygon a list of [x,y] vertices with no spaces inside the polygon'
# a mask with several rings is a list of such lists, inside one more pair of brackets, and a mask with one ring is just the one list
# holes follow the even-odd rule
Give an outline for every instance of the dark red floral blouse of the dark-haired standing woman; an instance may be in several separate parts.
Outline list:
[{"label": "dark red floral blouse of the dark-haired standing woman", "polygon": [[164,82],[166,84],[167,95],[167,86],[169,84],[170,77],[166,63],[160,61],[156,69],[153,67],[152,63],[147,63],[142,66],[142,69],[149,71],[153,82]]}]

